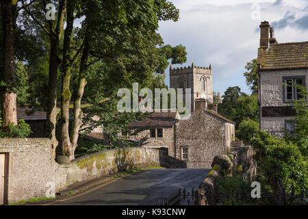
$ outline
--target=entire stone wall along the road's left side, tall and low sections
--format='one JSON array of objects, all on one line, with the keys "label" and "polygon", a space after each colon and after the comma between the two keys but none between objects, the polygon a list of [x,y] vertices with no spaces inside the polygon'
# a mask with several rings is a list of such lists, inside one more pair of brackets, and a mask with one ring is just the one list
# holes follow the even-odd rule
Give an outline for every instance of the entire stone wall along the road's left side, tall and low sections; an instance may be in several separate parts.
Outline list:
[{"label": "entire stone wall along the road's left side, tall and low sections", "polygon": [[168,152],[144,147],[101,151],[57,164],[51,158],[51,142],[44,138],[0,139],[0,153],[8,160],[5,203],[44,197],[69,186],[115,172],[149,166],[185,168]]}]

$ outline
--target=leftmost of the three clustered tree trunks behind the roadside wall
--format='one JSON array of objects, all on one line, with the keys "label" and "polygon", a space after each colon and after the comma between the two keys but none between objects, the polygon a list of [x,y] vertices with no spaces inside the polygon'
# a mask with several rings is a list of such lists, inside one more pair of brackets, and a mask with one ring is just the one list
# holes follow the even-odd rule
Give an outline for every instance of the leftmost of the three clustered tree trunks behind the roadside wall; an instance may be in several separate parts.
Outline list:
[{"label": "leftmost of the three clustered tree trunks behind the roadside wall", "polygon": [[47,137],[51,139],[51,156],[55,158],[55,149],[57,147],[57,138],[55,135],[55,126],[57,125],[57,73],[60,65],[59,43],[64,27],[64,18],[66,12],[66,1],[62,0],[59,4],[57,15],[57,26],[53,31],[52,23],[49,23],[50,33],[50,57],[49,57],[49,99],[47,104]]}]

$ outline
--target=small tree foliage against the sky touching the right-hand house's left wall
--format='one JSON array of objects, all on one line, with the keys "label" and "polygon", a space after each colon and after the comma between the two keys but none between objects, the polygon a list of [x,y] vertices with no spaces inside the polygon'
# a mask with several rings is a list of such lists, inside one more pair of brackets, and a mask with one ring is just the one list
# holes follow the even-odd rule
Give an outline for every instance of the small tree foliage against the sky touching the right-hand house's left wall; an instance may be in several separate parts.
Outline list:
[{"label": "small tree foliage against the sky touching the right-hand house's left wall", "polygon": [[246,83],[253,94],[257,94],[259,92],[258,86],[258,66],[257,66],[257,59],[251,60],[246,64],[246,73],[244,73],[244,77],[246,78]]}]

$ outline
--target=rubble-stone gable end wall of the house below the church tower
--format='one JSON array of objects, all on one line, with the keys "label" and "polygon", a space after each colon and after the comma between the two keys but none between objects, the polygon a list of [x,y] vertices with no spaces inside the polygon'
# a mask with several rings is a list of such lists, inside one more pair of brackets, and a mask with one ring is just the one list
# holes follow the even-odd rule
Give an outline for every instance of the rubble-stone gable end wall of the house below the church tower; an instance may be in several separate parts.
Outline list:
[{"label": "rubble-stone gable end wall of the house below the church tower", "polygon": [[181,150],[188,148],[188,168],[210,168],[216,155],[227,153],[233,138],[234,133],[227,136],[225,124],[223,120],[198,109],[189,120],[180,120],[176,124],[176,158],[182,159]]}]

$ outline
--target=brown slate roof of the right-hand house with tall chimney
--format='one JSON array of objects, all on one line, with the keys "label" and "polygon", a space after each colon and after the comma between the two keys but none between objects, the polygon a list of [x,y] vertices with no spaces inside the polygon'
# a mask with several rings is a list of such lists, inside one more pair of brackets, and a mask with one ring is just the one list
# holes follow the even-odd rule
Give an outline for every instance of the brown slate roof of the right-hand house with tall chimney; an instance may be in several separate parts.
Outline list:
[{"label": "brown slate roof of the right-hand house with tall chimney", "polygon": [[307,68],[308,42],[270,44],[264,51],[260,70]]}]

